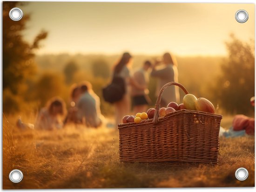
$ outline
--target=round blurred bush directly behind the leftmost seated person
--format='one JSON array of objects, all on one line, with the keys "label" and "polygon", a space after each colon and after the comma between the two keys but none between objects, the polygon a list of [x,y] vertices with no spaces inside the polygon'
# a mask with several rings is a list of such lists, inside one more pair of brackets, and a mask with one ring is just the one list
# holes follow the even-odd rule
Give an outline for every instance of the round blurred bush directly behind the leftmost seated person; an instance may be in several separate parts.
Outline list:
[{"label": "round blurred bush directly behind the leftmost seated person", "polygon": [[39,99],[40,107],[45,106],[47,100],[55,96],[62,96],[65,92],[64,78],[60,74],[43,73],[36,83],[36,98]]}]

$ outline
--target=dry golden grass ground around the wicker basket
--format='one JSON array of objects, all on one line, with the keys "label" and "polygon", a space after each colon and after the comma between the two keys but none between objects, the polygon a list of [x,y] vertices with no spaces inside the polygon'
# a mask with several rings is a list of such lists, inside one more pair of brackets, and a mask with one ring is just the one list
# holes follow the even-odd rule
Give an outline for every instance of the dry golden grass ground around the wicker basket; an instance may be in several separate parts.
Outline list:
[{"label": "dry golden grass ground around the wicker basket", "polygon": [[[8,121],[7,121],[8,119]],[[231,125],[231,117],[222,126]],[[129,188],[220,187],[255,185],[255,139],[220,139],[219,164],[173,167],[168,163],[119,162],[118,131],[67,126],[63,130],[21,131],[14,118],[3,118],[3,188]],[[245,167],[249,178],[238,181],[235,171]],[[23,180],[8,179],[20,169]]]}]

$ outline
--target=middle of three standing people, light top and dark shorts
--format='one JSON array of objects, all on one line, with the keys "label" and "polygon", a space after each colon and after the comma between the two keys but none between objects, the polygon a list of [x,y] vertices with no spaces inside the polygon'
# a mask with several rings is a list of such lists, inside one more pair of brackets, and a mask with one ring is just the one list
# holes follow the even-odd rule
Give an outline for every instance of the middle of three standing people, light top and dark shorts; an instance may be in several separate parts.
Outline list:
[{"label": "middle of three standing people, light top and dark shorts", "polygon": [[[150,61],[145,61],[143,66],[133,74],[135,81],[143,87],[148,87],[149,75],[148,70],[151,67]],[[146,112],[148,104],[151,102],[148,97],[148,88],[144,90],[131,86],[132,102],[134,114]]]}]

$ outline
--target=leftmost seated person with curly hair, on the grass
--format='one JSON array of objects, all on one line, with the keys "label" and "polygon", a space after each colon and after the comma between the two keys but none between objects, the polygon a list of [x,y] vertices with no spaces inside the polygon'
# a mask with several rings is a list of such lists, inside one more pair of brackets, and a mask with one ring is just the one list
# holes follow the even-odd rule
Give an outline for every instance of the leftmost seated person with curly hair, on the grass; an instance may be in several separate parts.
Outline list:
[{"label": "leftmost seated person with curly hair, on the grass", "polygon": [[47,102],[46,107],[40,110],[35,127],[45,130],[61,129],[65,114],[65,102],[59,97],[54,97]]}]

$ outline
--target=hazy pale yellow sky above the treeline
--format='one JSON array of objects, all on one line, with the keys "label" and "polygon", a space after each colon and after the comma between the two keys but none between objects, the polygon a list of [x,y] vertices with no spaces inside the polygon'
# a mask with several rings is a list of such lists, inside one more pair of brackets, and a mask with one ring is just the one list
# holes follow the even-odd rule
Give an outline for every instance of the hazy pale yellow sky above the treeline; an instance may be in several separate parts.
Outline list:
[{"label": "hazy pale yellow sky above the treeline", "polygon": [[[246,23],[235,13],[245,9]],[[224,55],[235,33],[254,39],[254,4],[31,2],[24,35],[32,41],[48,31],[38,53],[121,53]]]}]

